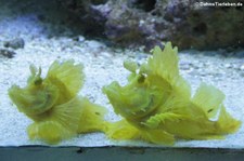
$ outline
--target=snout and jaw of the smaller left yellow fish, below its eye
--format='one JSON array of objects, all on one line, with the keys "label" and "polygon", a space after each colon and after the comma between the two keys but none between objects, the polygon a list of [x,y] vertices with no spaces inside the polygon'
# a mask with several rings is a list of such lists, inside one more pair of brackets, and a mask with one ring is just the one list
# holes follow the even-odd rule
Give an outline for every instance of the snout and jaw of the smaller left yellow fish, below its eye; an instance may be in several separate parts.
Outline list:
[{"label": "snout and jaw of the smaller left yellow fish, below its eye", "polygon": [[17,109],[28,116],[43,113],[49,110],[54,103],[51,93],[31,91],[28,88],[21,89],[17,85],[13,85],[9,89],[9,96],[17,106]]}]

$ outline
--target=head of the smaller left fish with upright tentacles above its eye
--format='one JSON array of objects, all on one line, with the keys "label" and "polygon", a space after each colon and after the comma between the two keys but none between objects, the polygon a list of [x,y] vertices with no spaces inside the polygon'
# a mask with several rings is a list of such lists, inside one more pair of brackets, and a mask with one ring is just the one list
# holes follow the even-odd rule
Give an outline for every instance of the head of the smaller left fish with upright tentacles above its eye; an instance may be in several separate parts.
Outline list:
[{"label": "head of the smaller left fish with upright tentacles above its eye", "polygon": [[30,66],[31,76],[25,88],[12,85],[9,95],[18,110],[27,116],[37,116],[49,110],[57,99],[59,92],[54,85],[41,78],[41,68],[37,71]]}]

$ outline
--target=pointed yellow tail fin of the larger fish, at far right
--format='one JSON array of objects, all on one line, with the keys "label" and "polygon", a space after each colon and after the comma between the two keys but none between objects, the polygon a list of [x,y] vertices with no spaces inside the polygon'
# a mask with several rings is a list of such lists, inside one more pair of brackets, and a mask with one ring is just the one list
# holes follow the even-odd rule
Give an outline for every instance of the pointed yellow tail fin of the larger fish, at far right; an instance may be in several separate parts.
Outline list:
[{"label": "pointed yellow tail fin of the larger fish, at far right", "polygon": [[241,124],[241,121],[231,117],[222,105],[217,121],[218,131],[222,134],[234,133],[240,129]]}]

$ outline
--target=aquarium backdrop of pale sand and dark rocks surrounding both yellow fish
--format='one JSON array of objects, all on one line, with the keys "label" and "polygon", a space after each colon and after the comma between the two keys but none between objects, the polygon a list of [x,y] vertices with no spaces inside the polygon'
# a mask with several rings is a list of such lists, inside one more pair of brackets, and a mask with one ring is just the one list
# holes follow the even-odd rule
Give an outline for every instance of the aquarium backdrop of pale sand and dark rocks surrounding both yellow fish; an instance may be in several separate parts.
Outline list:
[{"label": "aquarium backdrop of pale sand and dark rocks surrounding both yellow fish", "polygon": [[[243,121],[243,10],[198,6],[187,0],[0,0],[0,146],[44,145],[28,139],[26,128],[31,120],[8,96],[12,84],[26,84],[30,64],[41,66],[44,76],[55,59],[82,63],[86,81],[80,95],[105,106],[110,111],[106,120],[116,121],[120,117],[114,113],[102,86],[112,81],[125,84],[129,72],[123,62],[145,62],[150,49],[162,41],[179,46],[180,72],[193,92],[202,81],[217,86],[226,94],[227,110]],[[243,132],[242,126],[222,140],[180,139],[175,146],[243,148]],[[156,145],[116,142],[92,133],[60,146]]]}]

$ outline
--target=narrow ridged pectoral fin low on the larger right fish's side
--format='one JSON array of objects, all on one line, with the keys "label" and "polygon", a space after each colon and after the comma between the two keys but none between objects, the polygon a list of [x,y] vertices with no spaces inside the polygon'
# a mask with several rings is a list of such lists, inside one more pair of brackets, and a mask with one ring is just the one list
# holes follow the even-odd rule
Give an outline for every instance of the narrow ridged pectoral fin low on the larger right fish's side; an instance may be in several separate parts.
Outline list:
[{"label": "narrow ridged pectoral fin low on the larger right fish's side", "polygon": [[172,112],[163,112],[157,113],[153,117],[150,117],[145,122],[143,122],[144,125],[151,129],[156,129],[160,123],[165,123],[166,121],[179,121],[183,119],[184,117],[181,115],[172,113]]}]

